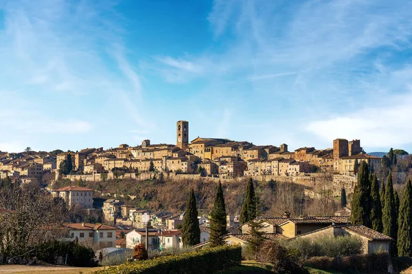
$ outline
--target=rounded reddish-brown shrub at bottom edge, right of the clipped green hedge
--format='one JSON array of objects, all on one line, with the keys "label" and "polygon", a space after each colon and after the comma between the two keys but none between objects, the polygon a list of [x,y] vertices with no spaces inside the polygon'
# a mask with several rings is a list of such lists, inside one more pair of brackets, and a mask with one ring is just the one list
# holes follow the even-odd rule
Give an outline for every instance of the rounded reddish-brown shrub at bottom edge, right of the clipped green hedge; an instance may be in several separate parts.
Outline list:
[{"label": "rounded reddish-brown shrub at bottom edge, right of the clipped green hedge", "polygon": [[278,242],[264,242],[258,252],[258,261],[273,264],[275,273],[299,273],[301,268],[296,254]]}]

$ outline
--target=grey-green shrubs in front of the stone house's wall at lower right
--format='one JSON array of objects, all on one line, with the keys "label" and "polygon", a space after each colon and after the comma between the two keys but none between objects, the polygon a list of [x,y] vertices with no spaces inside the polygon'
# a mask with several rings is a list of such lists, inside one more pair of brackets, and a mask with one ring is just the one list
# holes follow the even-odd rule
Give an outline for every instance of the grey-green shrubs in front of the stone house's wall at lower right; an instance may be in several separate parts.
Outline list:
[{"label": "grey-green shrubs in front of the stone house's wall at lower right", "polygon": [[297,237],[285,243],[287,249],[299,250],[302,258],[314,256],[351,256],[363,251],[363,242],[356,236]]}]

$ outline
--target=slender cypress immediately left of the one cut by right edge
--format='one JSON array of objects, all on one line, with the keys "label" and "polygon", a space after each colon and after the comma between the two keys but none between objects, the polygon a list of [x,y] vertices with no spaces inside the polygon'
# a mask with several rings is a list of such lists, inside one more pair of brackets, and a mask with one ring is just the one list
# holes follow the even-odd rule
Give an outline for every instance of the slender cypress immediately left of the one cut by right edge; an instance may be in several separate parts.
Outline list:
[{"label": "slender cypress immediately left of the one cut by right edge", "polygon": [[[395,195],[393,194],[392,173],[389,171],[388,182],[385,190],[385,208],[382,210],[383,234],[396,239],[398,229],[396,216]],[[391,243],[391,255],[396,254],[396,242]]]}]

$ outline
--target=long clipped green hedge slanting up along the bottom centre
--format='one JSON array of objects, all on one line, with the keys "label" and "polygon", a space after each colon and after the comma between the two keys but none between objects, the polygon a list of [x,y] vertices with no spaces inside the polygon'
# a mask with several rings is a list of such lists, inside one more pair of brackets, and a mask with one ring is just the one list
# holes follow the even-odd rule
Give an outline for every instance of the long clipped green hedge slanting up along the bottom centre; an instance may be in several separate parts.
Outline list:
[{"label": "long clipped green hedge slanting up along the bottom centre", "polygon": [[241,260],[242,248],[240,246],[223,246],[146,261],[126,262],[119,266],[95,271],[93,274],[207,274],[237,265]]}]

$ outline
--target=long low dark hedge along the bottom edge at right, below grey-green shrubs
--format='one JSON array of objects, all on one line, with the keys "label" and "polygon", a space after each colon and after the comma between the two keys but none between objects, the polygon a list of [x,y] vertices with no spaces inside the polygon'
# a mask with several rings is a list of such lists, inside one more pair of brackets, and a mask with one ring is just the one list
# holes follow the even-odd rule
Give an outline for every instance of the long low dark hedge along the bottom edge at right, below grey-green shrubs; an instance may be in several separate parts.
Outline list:
[{"label": "long low dark hedge along the bottom edge at right, below grey-green shrubs", "polygon": [[327,256],[312,257],[306,260],[306,266],[314,269],[339,271],[343,273],[387,273],[388,254],[373,253],[331,258]]}]

